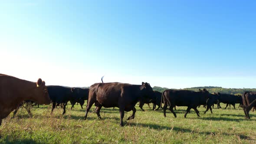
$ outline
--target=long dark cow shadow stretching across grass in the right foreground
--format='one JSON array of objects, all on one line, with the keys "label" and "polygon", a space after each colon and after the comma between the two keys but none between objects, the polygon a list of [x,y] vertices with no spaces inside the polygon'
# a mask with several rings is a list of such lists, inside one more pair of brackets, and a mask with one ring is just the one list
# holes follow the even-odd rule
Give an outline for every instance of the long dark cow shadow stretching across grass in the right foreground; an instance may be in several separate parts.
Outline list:
[{"label": "long dark cow shadow stretching across grass in the right foreground", "polygon": [[[135,123],[135,122],[128,122],[126,124],[126,126],[128,126],[128,127],[136,127],[137,126],[137,127],[151,128],[151,129],[155,129],[158,131],[168,130],[168,131],[184,132],[184,133],[189,133],[189,134],[200,134],[200,135],[216,135],[218,133],[218,132],[214,132],[214,131],[195,132],[194,130],[187,129],[187,128],[168,127],[168,126],[162,126],[162,125],[158,125],[158,124],[143,124],[143,123]],[[222,135],[233,136],[235,134],[223,132]],[[241,139],[253,140],[253,138],[243,135],[243,134],[236,134],[236,135],[239,135]]]}]

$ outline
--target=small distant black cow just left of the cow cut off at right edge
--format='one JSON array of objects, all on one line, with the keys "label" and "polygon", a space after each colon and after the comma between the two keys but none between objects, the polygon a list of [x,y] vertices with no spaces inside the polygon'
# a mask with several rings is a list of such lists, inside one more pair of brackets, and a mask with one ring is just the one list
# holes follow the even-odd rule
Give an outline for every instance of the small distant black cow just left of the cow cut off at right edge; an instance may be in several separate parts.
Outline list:
[{"label": "small distant black cow just left of the cow cut off at right edge", "polygon": [[236,109],[236,104],[241,105],[243,103],[242,96],[239,96],[239,95],[221,94],[220,92],[214,93],[214,94],[218,95],[217,108],[221,108],[220,107],[221,102],[226,104],[226,108],[228,105],[233,105],[234,109]]}]

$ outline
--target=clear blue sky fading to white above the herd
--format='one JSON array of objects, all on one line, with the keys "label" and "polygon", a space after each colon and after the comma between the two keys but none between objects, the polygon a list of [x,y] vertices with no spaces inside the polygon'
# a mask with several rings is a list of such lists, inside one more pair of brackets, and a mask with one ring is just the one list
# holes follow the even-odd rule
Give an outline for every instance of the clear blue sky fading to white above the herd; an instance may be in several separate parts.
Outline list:
[{"label": "clear blue sky fading to white above the herd", "polygon": [[256,88],[256,0],[0,0],[0,73]]}]

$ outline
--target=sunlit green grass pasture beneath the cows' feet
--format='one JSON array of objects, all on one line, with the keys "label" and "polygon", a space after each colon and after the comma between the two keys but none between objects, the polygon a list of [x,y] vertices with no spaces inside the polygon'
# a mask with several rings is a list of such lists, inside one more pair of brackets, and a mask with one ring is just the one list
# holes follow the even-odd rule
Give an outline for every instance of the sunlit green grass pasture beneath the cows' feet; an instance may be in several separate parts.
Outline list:
[{"label": "sunlit green grass pasture beneath the cows' feet", "polygon": [[120,127],[118,108],[102,108],[99,120],[92,107],[84,121],[85,109],[70,107],[64,116],[61,108],[51,115],[51,105],[32,108],[32,118],[24,108],[13,119],[10,114],[0,127],[0,143],[256,143],[256,113],[251,111],[248,121],[241,108],[214,108],[213,114],[204,115],[201,107],[200,118],[194,110],[184,118],[186,107],[177,107],[177,118],[169,110],[164,118],[162,110],[152,111],[144,105],[145,111],[141,111],[136,105],[135,119],[127,121],[132,112],[125,112],[125,126]]}]

